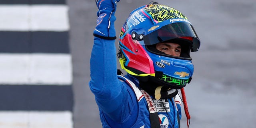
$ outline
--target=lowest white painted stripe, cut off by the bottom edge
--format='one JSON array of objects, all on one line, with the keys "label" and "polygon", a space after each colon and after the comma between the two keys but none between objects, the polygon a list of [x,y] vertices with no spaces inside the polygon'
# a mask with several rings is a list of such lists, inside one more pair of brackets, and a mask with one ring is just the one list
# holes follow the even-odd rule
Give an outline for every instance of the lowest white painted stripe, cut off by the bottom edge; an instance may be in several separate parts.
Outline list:
[{"label": "lowest white painted stripe, cut off by the bottom edge", "polygon": [[1,128],[73,128],[72,112],[0,111]]}]

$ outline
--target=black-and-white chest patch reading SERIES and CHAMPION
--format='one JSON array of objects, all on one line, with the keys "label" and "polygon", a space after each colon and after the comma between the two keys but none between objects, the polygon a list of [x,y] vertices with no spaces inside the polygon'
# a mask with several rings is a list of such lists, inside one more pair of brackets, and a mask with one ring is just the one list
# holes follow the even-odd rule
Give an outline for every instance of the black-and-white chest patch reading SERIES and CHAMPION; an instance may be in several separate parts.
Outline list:
[{"label": "black-and-white chest patch reading SERIES and CHAMPION", "polygon": [[157,112],[170,112],[170,105],[168,99],[152,100],[156,106]]}]

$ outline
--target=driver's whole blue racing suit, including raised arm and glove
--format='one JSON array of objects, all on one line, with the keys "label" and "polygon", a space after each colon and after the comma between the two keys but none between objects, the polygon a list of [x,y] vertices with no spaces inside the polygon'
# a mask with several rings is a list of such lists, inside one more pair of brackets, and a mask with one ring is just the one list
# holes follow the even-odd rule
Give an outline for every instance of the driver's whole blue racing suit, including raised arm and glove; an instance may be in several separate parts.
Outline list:
[{"label": "driver's whole blue racing suit, including raised arm and glove", "polygon": [[[150,128],[148,103],[137,88],[139,81],[129,74],[125,77],[118,76],[116,72],[116,47],[115,40],[113,40],[115,37],[114,12],[116,1],[97,0],[96,2],[99,8],[99,18],[94,31],[89,86],[98,104],[102,127]],[[100,2],[108,3],[102,4]],[[109,10],[101,8],[108,8]],[[158,111],[161,128],[178,128],[177,116],[179,115],[178,117],[181,118],[179,98],[176,96],[175,101],[174,98],[152,99]]]}]

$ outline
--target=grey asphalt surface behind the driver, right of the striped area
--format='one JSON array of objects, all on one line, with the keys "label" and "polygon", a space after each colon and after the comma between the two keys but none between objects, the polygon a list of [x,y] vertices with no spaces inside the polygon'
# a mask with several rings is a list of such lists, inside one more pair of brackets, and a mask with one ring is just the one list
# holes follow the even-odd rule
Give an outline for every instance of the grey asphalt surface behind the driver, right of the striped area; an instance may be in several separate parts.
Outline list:
[{"label": "grey asphalt surface behind the driver, right of the striped area", "polygon": [[[150,1],[118,2],[117,35],[130,11]],[[70,7],[70,50],[74,76],[74,128],[100,128],[98,106],[88,87],[97,8],[94,0],[67,2]],[[194,75],[185,88],[191,115],[190,128],[255,128],[255,0],[158,2],[185,14],[201,40],[199,51],[191,54]],[[185,114],[181,125],[186,127]]]}]

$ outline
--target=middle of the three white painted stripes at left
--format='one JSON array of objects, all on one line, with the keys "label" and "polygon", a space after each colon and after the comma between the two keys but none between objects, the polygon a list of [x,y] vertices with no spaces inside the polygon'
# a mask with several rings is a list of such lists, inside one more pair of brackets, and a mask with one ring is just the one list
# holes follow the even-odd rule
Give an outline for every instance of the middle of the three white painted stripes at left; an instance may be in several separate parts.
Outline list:
[{"label": "middle of the three white painted stripes at left", "polygon": [[0,54],[0,84],[71,85],[70,54]]}]

